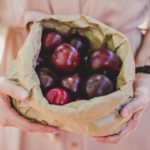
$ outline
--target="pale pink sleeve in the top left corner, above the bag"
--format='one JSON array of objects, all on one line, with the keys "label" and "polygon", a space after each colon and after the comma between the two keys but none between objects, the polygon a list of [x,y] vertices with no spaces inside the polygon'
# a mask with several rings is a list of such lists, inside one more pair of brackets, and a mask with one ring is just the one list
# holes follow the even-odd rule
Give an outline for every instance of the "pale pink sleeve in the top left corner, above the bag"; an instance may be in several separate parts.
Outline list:
[{"label": "pale pink sleeve in the top left corner, above the bag", "polygon": [[48,0],[0,0],[0,22],[8,27],[25,27],[29,21],[50,14]]}]

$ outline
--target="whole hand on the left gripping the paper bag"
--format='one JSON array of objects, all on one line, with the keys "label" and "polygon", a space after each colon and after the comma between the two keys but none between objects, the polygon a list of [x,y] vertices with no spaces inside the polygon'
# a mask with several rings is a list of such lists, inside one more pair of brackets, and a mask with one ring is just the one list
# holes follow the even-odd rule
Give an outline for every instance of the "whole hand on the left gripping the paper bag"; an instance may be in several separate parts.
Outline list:
[{"label": "whole hand on the left gripping the paper bag", "polygon": [[20,116],[10,105],[10,99],[7,96],[24,101],[29,93],[22,87],[12,84],[4,77],[0,77],[0,125],[14,126],[21,130],[29,132],[58,132],[59,129],[52,126],[44,126],[38,123],[32,123]]}]

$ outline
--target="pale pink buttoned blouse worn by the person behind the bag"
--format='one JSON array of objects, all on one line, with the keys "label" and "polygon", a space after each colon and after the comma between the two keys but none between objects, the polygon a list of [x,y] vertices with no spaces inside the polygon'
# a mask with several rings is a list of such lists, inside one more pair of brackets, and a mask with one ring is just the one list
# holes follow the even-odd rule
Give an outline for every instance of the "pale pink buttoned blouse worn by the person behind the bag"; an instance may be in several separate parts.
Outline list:
[{"label": "pale pink buttoned blouse worn by the person behind the bag", "polygon": [[[82,14],[123,32],[133,52],[141,43],[137,26],[149,15],[150,0],[1,0],[0,22],[8,27],[1,73],[16,57],[23,44],[28,22],[51,14]],[[62,131],[60,134],[26,133],[16,128],[0,127],[0,150],[149,150],[150,109],[139,128],[117,145],[97,143],[91,137]]]}]

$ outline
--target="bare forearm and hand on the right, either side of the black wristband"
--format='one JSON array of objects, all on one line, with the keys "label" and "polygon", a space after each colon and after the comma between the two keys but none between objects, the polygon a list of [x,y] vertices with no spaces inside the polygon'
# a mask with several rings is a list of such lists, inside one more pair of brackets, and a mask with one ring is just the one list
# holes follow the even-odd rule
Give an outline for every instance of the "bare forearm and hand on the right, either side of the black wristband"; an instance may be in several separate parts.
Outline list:
[{"label": "bare forearm and hand on the right, either side of the black wristband", "polygon": [[[150,30],[144,36],[142,46],[135,57],[136,67],[150,65]],[[126,127],[118,134],[105,137],[94,137],[100,143],[116,144],[132,133],[138,125],[140,118],[150,101],[150,75],[137,73],[134,81],[134,97],[130,103],[125,105],[120,115],[127,117],[131,115]]]}]

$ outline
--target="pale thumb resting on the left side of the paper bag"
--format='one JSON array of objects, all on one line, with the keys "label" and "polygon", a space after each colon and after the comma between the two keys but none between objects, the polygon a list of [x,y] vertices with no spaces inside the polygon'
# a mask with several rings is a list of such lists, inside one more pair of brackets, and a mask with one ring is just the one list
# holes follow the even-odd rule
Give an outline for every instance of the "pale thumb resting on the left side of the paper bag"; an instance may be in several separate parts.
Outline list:
[{"label": "pale thumb resting on the left side of the paper bag", "polygon": [[24,88],[14,85],[5,77],[0,77],[0,92],[18,100],[25,100],[29,96]]}]

